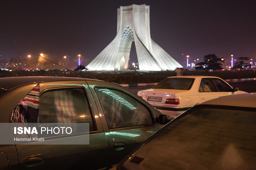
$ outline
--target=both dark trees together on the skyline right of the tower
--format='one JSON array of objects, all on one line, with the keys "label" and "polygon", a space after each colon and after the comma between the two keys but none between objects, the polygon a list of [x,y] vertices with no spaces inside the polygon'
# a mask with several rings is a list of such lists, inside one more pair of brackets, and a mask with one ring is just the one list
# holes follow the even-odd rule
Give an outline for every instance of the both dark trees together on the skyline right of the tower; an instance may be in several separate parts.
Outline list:
[{"label": "both dark trees together on the skyline right of the tower", "polygon": [[[239,57],[236,64],[233,66],[233,69],[247,69],[250,68],[251,64],[246,63],[246,61],[250,60],[249,57]],[[225,63],[223,57],[217,57],[215,54],[209,54],[204,56],[204,61],[197,63],[195,69],[196,70],[221,70],[222,63]],[[197,66],[198,65],[198,66]]]}]

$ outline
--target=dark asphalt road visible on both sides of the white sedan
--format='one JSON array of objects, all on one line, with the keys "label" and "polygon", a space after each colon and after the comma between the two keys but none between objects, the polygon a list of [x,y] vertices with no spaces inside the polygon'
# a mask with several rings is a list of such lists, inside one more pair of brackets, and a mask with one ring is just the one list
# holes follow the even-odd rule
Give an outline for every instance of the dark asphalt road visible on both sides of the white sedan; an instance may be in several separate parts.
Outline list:
[{"label": "dark asphalt road visible on both sides of the white sedan", "polygon": [[[256,92],[256,81],[242,81],[242,82],[229,82],[232,87],[237,87],[238,90],[242,90],[248,93]],[[128,87],[132,92],[138,93],[139,90],[145,90],[152,88],[153,86],[137,86],[137,87]]]}]

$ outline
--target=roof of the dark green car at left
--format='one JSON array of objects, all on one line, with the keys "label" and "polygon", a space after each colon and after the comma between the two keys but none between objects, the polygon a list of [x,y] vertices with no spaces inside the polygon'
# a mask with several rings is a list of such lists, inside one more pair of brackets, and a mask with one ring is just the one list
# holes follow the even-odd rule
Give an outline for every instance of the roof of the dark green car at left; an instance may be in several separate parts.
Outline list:
[{"label": "roof of the dark green car at left", "polygon": [[94,79],[76,78],[76,77],[52,77],[52,76],[4,77],[4,78],[0,78],[0,88],[5,90],[10,90],[14,87],[17,87],[23,84],[33,83],[33,82],[71,81],[71,80],[94,80]]}]

